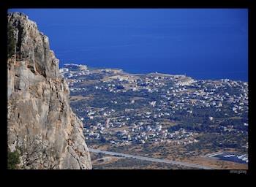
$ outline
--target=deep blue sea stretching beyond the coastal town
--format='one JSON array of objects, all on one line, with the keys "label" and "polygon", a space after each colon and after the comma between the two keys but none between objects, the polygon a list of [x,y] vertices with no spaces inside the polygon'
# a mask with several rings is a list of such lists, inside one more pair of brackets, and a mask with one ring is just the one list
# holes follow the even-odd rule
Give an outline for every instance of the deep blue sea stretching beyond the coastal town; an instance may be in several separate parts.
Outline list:
[{"label": "deep blue sea stretching beyond the coastal town", "polygon": [[10,9],[65,63],[248,81],[247,9]]}]

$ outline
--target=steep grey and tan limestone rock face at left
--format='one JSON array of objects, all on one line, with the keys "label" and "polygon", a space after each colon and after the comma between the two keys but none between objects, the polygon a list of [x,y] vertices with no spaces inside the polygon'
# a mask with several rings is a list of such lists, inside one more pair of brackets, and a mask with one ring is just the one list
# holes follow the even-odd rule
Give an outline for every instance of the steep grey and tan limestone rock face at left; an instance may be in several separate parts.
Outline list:
[{"label": "steep grey and tan limestone rock face at left", "polygon": [[28,16],[8,24],[15,54],[8,58],[8,147],[19,150],[22,169],[91,169],[83,123],[69,107],[69,88],[48,37]]}]

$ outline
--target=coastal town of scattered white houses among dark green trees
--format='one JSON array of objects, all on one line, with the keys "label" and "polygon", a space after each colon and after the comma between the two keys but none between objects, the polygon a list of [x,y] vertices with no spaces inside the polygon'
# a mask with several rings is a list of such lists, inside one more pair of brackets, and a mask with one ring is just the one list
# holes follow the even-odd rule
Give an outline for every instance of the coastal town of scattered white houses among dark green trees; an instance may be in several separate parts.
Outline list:
[{"label": "coastal town of scattered white houses among dark green trees", "polygon": [[[223,139],[220,148],[248,149],[246,82],[77,64],[64,64],[60,72],[89,145],[189,146],[200,144],[202,134],[215,133]],[[230,142],[227,136],[243,138]]]}]

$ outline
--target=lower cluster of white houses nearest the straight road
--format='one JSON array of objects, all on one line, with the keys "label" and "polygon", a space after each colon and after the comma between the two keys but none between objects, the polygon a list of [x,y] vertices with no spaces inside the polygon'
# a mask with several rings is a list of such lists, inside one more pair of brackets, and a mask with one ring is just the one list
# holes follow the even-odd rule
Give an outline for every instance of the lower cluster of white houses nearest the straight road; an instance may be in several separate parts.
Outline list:
[{"label": "lower cluster of white houses nearest the straight road", "polygon": [[162,129],[162,125],[159,123],[155,125],[148,125],[143,122],[127,124],[124,122],[114,123],[111,122],[112,120],[107,118],[105,123],[97,123],[91,126],[85,125],[84,135],[86,140],[102,140],[103,137],[104,140],[108,140],[115,145],[144,144],[146,142],[156,144],[168,142],[176,145],[186,145],[198,141],[195,138],[196,132],[186,131],[185,129],[168,131],[167,129]]}]

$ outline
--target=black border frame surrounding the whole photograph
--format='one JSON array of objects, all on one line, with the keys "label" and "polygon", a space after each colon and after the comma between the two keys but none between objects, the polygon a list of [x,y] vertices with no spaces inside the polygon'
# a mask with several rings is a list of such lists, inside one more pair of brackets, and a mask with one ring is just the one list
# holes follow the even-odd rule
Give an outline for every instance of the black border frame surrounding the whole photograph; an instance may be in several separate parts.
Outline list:
[{"label": "black border frame surrounding the whole photograph", "polygon": [[[41,3],[41,4],[39,4]],[[132,2],[122,2],[122,1],[103,1],[99,3],[98,1],[5,1],[0,2],[0,15],[1,15],[1,85],[5,85],[7,88],[7,64],[4,61],[7,61],[7,9],[10,8],[246,8],[248,9],[248,18],[249,18],[249,164],[248,170],[246,170],[246,174],[243,173],[242,170],[241,174],[239,174],[239,170],[234,170],[235,173],[231,173],[228,169],[223,170],[91,170],[91,171],[77,171],[72,170],[7,170],[7,90],[1,91],[1,119],[5,123],[1,124],[1,148],[5,148],[3,152],[5,155],[1,154],[3,158],[1,158],[1,162],[3,166],[1,169],[4,169],[7,175],[83,175],[85,178],[90,178],[91,175],[97,176],[154,176],[154,177],[168,177],[168,176],[176,176],[176,175],[196,175],[196,176],[206,176],[206,175],[233,175],[233,176],[243,176],[243,175],[255,175],[255,135],[253,132],[256,131],[256,128],[252,121],[253,116],[253,108],[252,106],[255,105],[255,91],[252,90],[253,85],[255,84],[255,74],[253,69],[255,69],[255,5],[253,4],[253,0],[215,0],[215,1],[169,1],[169,2],[162,2],[162,1],[136,1],[136,3],[132,4]],[[4,29],[5,28],[5,29]],[[5,119],[5,121],[3,120]]]}]

